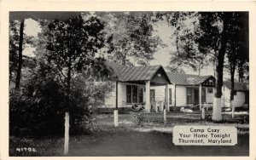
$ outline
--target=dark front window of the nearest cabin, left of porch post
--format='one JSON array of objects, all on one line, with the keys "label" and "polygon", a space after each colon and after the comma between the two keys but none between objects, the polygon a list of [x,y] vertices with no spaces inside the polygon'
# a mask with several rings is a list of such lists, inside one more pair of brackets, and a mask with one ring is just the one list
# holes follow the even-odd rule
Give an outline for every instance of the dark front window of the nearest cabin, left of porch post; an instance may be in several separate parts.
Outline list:
[{"label": "dark front window of the nearest cabin, left of porch post", "polygon": [[143,103],[143,88],[126,85],[126,103]]}]

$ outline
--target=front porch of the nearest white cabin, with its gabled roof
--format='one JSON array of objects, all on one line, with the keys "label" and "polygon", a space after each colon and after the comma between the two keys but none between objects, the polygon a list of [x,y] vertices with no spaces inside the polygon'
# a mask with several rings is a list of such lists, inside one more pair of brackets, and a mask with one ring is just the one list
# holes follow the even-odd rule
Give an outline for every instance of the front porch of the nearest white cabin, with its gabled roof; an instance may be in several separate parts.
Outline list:
[{"label": "front porch of the nearest white cabin, with its gabled roof", "polygon": [[[129,67],[129,74],[124,79],[116,82],[116,103],[115,109],[132,108],[137,111],[164,111],[164,106],[169,104],[169,78],[162,66]],[[160,103],[157,109],[152,99],[151,86],[165,87],[165,100]],[[166,107],[167,108],[167,107]]]}]

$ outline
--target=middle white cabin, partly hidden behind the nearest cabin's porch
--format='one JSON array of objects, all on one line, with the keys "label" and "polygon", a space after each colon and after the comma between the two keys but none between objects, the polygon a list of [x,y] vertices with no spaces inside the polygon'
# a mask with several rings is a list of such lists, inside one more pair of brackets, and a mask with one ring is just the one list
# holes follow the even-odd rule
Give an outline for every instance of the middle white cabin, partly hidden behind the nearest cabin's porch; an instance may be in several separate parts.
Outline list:
[{"label": "middle white cabin, partly hidden behind the nearest cabin's porch", "polygon": [[[209,76],[198,76],[168,72],[171,84],[169,89],[168,111],[177,110],[181,107],[195,107],[201,109],[203,106],[212,107],[213,89],[215,78]],[[152,99],[156,102],[164,100],[164,88],[161,86],[151,87]]]}]

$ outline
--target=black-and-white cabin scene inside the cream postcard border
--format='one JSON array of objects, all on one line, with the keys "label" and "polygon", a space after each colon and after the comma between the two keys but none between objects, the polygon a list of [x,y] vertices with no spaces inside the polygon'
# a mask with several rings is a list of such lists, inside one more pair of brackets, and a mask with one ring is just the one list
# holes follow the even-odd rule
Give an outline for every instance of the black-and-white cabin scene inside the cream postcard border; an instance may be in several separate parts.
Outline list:
[{"label": "black-and-white cabin scene inside the cream postcard border", "polygon": [[250,11],[8,14],[9,157],[250,156]]}]

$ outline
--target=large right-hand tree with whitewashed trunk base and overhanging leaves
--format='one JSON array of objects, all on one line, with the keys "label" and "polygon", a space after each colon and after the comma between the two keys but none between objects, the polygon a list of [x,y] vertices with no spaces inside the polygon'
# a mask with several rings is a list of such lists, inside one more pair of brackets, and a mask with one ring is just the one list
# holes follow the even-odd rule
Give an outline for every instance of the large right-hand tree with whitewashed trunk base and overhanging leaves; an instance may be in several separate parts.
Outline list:
[{"label": "large right-hand tree with whitewashed trunk base and overhanging leaves", "polygon": [[[206,64],[207,56],[211,55],[209,60],[213,61],[217,73],[215,98],[221,98],[223,86],[224,56],[229,51],[229,49],[233,52],[236,52],[237,49],[240,48],[239,46],[243,45],[239,43],[244,43],[245,46],[247,46],[247,41],[243,41],[243,38],[247,37],[247,31],[242,29],[242,26],[246,26],[245,24],[247,23],[247,13],[180,12],[166,13],[163,15],[167,16],[166,20],[172,26],[177,27],[177,48],[182,48],[184,51],[182,54],[177,54],[174,61],[181,60],[184,64],[189,61],[189,63],[191,63],[189,66],[195,68],[195,66],[193,66],[195,60],[199,60],[200,65]],[[160,17],[163,15],[160,14]],[[195,25],[194,28],[184,29],[183,26],[188,26],[185,21],[187,19],[191,20],[191,16],[195,18],[195,22],[193,22]],[[184,36],[179,36],[181,34]],[[237,37],[239,39],[238,41],[236,41]],[[178,42],[182,43],[180,44]],[[241,53],[245,51],[244,49],[247,48],[241,47]],[[233,52],[230,52],[230,58],[234,57]],[[214,110],[215,107],[213,107],[212,119],[219,120],[221,117],[221,112]]]}]

